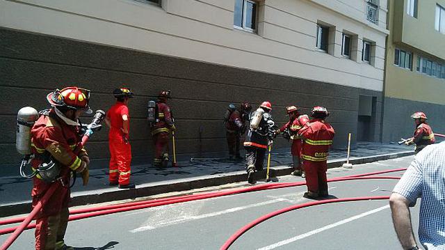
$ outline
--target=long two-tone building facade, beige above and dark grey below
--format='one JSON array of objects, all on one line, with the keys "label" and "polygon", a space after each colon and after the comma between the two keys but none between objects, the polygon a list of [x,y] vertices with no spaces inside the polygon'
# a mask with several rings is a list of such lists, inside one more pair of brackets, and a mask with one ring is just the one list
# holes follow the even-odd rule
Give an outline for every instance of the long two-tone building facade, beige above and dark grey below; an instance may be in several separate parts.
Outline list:
[{"label": "long two-tone building facade, beige above and dark grey below", "polygon": [[[0,1],[1,164],[15,164],[15,117],[44,109],[54,88],[92,91],[108,109],[127,86],[133,158],[152,155],[147,101],[171,89],[180,155],[223,153],[228,104],[273,104],[330,111],[334,147],[380,141],[387,0]],[[6,98],[5,98],[6,97]],[[88,118],[84,118],[88,120]],[[108,158],[106,131],[88,144]],[[289,147],[277,139],[278,148]]]}]

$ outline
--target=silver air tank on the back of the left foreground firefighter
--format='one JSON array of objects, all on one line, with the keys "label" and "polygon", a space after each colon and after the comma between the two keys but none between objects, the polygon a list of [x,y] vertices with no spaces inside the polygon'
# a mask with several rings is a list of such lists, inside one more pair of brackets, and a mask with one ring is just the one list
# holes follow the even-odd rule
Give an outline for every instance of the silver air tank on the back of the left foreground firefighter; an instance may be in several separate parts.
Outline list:
[{"label": "silver air tank on the back of the left foreground firefighter", "polygon": [[21,155],[31,154],[31,127],[39,118],[39,113],[33,107],[23,107],[17,113],[17,137],[15,148]]}]

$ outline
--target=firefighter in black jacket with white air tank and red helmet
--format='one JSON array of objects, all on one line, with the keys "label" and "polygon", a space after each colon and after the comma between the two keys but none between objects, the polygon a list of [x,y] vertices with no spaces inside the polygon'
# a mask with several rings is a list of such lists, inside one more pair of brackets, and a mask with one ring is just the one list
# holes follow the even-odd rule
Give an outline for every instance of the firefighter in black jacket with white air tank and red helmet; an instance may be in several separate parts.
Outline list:
[{"label": "firefighter in black jacket with white air tank and red helmet", "polygon": [[248,182],[254,184],[254,172],[263,170],[264,155],[268,145],[273,143],[273,138],[277,128],[273,122],[270,111],[272,104],[270,102],[263,102],[250,115],[250,128],[245,136],[244,148],[247,151],[245,154],[246,170],[248,172]]}]

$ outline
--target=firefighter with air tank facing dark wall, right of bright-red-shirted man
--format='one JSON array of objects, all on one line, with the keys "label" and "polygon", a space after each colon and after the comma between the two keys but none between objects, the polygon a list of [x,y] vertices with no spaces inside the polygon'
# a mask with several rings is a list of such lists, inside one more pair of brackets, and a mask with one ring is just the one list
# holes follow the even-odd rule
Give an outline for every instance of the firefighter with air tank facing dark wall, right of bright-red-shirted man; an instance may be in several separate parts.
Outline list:
[{"label": "firefighter with air tank facing dark wall, right of bright-red-shirted man", "polygon": [[175,131],[175,119],[168,107],[167,100],[171,99],[170,90],[161,91],[156,102],[156,122],[152,125],[152,139],[154,141],[153,166],[166,167],[169,161],[168,141],[170,132]]}]

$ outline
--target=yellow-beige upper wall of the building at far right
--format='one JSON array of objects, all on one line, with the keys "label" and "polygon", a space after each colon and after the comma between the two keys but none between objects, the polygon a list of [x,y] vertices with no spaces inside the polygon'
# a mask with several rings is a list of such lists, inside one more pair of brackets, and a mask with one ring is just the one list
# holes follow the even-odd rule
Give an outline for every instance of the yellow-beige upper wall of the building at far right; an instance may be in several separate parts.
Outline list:
[{"label": "yellow-beige upper wall of the building at far right", "polygon": [[[436,57],[445,53],[445,49],[443,49],[445,35],[438,33],[434,28],[435,1],[419,1],[419,15],[415,19],[406,14],[406,0],[404,5],[403,1],[391,0],[389,24],[392,28],[388,39],[389,44],[387,45],[386,97],[445,104],[445,79],[416,72],[416,58],[418,55],[427,56],[432,60],[436,59],[439,63],[445,65],[444,60]],[[432,9],[432,12],[428,9]],[[402,16],[403,19],[401,19]],[[436,33],[440,36],[435,36]],[[394,65],[396,48],[413,53],[412,70]],[[434,49],[437,53],[430,53]]]}]

